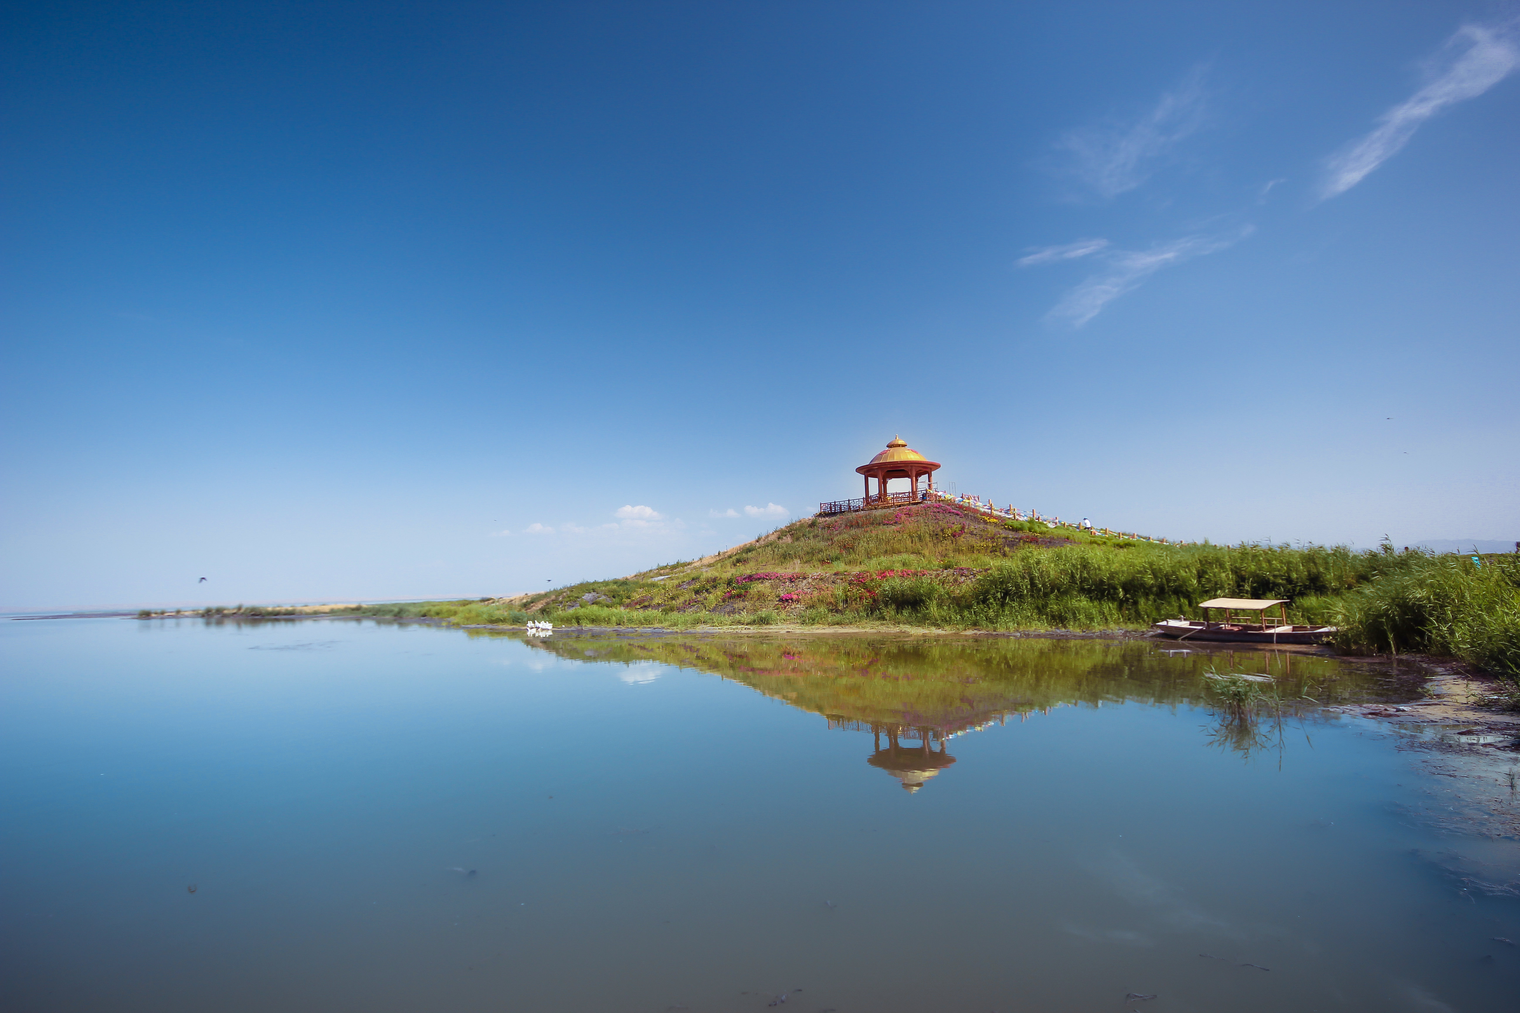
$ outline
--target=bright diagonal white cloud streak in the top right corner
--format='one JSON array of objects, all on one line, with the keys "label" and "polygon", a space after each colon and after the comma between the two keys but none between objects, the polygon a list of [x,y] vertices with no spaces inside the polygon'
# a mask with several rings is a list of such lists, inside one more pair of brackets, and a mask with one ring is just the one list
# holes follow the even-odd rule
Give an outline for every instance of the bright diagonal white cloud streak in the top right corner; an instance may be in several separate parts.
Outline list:
[{"label": "bright diagonal white cloud streak in the top right corner", "polygon": [[1321,196],[1345,193],[1409,143],[1420,125],[1449,105],[1476,99],[1520,67],[1517,21],[1464,24],[1429,64],[1429,84],[1379,118],[1377,129],[1328,161]]}]

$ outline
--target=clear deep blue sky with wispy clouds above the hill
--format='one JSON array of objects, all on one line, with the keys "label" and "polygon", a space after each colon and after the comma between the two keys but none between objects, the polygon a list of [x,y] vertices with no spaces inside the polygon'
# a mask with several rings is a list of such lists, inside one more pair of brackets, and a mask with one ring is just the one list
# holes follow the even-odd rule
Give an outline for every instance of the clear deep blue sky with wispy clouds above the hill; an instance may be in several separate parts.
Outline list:
[{"label": "clear deep blue sky with wispy clouds above the hill", "polygon": [[0,607],[620,576],[895,433],[1160,536],[1514,541],[1517,17],[8,5]]}]

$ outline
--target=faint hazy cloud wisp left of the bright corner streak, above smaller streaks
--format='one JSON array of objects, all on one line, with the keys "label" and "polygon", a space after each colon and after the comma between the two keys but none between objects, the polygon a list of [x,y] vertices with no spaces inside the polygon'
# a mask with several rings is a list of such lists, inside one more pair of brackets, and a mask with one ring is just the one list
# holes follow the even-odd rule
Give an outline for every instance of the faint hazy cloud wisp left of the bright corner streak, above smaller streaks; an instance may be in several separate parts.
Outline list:
[{"label": "faint hazy cloud wisp left of the bright corner streak, above smaller streaks", "polygon": [[1072,172],[1102,197],[1134,190],[1155,172],[1178,141],[1204,125],[1204,68],[1134,118],[1067,132],[1056,149],[1072,156]]}]

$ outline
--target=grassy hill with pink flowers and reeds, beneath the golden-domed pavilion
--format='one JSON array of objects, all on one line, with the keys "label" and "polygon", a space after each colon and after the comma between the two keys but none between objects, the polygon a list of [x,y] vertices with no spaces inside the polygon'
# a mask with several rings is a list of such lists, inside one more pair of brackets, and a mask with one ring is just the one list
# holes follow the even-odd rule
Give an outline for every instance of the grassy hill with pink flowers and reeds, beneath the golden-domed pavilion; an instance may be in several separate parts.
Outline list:
[{"label": "grassy hill with pink flowers and reeds, beneath the golden-domed pavilion", "polygon": [[1520,557],[1176,545],[948,503],[806,518],[696,560],[540,594],[365,609],[459,624],[1142,629],[1210,597],[1290,598],[1341,647],[1520,673]]}]

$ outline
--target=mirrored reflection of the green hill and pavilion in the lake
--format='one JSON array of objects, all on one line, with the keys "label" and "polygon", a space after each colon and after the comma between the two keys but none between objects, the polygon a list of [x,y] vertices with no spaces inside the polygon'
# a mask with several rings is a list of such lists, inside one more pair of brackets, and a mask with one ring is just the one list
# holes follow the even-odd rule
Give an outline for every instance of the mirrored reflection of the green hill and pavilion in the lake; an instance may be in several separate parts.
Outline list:
[{"label": "mirrored reflection of the green hill and pavilion in the lake", "polygon": [[526,642],[588,664],[695,668],[818,714],[830,729],[871,732],[866,762],[907,791],[956,762],[947,744],[958,735],[1059,706],[1201,705],[1207,670],[1272,676],[1300,718],[1400,696],[1380,671],[1319,653],[1149,639],[561,630]]}]

